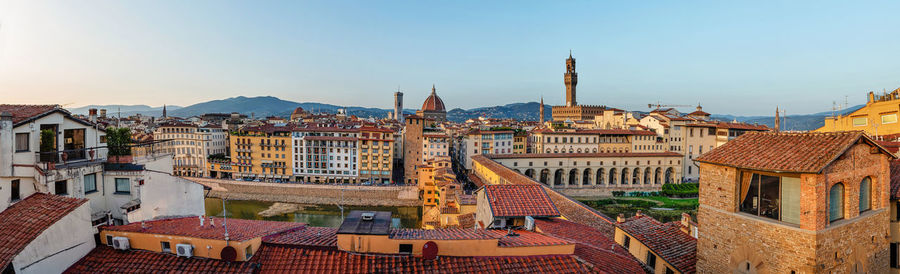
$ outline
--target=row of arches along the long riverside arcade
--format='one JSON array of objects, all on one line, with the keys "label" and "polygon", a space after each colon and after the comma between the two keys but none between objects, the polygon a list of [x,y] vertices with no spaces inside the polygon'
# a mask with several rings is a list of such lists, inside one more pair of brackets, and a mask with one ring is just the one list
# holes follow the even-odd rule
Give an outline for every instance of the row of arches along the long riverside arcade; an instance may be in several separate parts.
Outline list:
[{"label": "row of arches along the long riverside arcade", "polygon": [[550,186],[661,185],[675,182],[673,167],[526,169],[523,173]]}]

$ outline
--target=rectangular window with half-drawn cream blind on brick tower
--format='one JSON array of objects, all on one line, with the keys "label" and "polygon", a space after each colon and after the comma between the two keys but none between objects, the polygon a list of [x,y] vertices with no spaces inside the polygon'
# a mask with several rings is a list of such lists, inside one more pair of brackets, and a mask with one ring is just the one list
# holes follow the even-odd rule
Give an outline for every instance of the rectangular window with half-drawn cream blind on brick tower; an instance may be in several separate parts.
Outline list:
[{"label": "rectangular window with half-drawn cream blind on brick tower", "polygon": [[800,178],[741,173],[739,191],[741,212],[800,223]]}]

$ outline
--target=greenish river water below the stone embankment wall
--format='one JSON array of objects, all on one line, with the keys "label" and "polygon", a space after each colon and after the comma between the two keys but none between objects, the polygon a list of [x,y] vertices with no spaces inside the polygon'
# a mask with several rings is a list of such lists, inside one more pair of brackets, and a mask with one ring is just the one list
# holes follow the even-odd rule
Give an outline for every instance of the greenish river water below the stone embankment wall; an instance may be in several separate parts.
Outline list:
[{"label": "greenish river water below the stone embankment wall", "polygon": [[[227,200],[225,204],[228,209],[228,218],[297,222],[319,227],[339,227],[341,222],[343,222],[341,209],[335,205],[304,205],[242,200]],[[273,205],[276,206],[273,207]],[[269,210],[269,212],[264,212],[266,210]],[[392,227],[422,227],[422,207],[344,206],[345,215],[350,213],[351,210],[390,211]],[[206,198],[206,215],[221,217],[222,200]]]}]

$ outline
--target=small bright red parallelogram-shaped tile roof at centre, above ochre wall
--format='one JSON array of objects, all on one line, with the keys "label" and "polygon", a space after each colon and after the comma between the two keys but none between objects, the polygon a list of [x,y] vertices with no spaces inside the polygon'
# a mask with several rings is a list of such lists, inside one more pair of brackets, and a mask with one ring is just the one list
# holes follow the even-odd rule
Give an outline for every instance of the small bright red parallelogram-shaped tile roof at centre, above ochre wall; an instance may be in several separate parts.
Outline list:
[{"label": "small bright red parallelogram-shaped tile roof at centre, above ochre wall", "polygon": [[494,217],[558,217],[559,210],[539,185],[485,185]]}]

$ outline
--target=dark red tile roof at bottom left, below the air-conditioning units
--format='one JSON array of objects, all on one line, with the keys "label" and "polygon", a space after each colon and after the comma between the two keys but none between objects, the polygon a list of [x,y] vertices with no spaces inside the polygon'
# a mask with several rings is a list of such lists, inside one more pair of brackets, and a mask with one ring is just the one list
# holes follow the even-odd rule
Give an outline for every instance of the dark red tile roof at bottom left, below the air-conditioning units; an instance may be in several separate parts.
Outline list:
[{"label": "dark red tile roof at bottom left, below the air-conditioning units", "polygon": [[144,250],[119,251],[101,245],[63,273],[254,273],[247,262],[226,262]]}]

